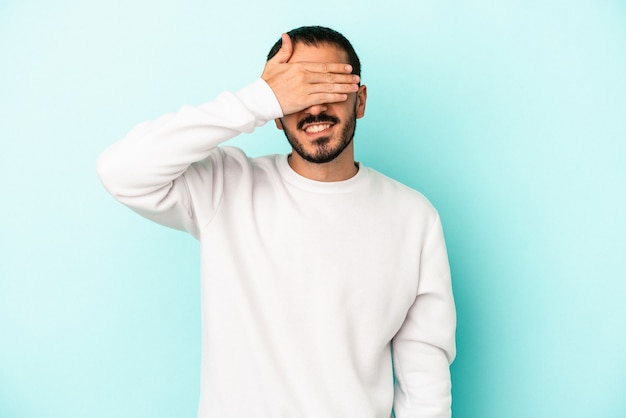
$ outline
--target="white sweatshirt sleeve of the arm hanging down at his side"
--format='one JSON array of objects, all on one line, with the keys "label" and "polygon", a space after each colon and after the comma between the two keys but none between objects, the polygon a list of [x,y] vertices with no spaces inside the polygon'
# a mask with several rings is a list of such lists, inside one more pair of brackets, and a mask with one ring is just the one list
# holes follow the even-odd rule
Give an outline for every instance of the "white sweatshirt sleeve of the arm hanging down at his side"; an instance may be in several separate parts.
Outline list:
[{"label": "white sweatshirt sleeve of the arm hanging down at his side", "polygon": [[392,341],[396,418],[451,416],[455,330],[450,267],[437,216],[422,249],[415,301]]}]

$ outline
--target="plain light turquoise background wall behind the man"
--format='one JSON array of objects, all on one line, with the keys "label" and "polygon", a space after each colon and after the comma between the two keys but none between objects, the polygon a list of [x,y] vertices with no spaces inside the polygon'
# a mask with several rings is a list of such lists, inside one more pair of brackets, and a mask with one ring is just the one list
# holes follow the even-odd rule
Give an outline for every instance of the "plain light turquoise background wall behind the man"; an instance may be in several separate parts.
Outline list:
[{"label": "plain light turquoise background wall behind the man", "polygon": [[[454,416],[625,416],[623,1],[3,0],[0,417],[195,416],[197,243],[94,163],[303,24],[361,56],[358,159],[441,213]],[[273,124],[233,142],[287,150]]]}]

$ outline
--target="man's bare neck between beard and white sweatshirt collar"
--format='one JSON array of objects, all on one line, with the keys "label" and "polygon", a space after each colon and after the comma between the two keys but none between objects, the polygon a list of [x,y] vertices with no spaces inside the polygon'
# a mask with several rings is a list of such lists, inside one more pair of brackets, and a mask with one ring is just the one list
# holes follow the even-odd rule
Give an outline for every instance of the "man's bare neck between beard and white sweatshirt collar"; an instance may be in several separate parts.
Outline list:
[{"label": "man's bare neck between beard and white sweatshirt collar", "polygon": [[[348,152],[346,152],[348,151]],[[287,161],[289,166],[302,177],[315,181],[342,181],[354,177],[359,171],[351,150],[344,150],[341,155],[327,163],[312,163],[292,152]]]}]

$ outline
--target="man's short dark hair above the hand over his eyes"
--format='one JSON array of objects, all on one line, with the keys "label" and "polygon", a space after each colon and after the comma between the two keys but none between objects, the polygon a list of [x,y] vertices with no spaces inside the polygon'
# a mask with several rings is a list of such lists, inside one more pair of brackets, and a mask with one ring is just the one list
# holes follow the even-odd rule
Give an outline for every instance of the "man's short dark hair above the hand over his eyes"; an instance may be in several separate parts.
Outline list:
[{"label": "man's short dark hair above the hand over his eyes", "polygon": [[[330,44],[343,50],[348,55],[348,64],[352,66],[352,74],[361,76],[361,61],[356,55],[352,44],[348,39],[336,30],[325,28],[323,26],[301,26],[297,29],[290,30],[287,35],[291,38],[293,45],[301,42],[305,45],[319,46],[320,44]],[[283,45],[282,38],[278,40],[267,54],[267,60],[272,59],[278,53]]]}]

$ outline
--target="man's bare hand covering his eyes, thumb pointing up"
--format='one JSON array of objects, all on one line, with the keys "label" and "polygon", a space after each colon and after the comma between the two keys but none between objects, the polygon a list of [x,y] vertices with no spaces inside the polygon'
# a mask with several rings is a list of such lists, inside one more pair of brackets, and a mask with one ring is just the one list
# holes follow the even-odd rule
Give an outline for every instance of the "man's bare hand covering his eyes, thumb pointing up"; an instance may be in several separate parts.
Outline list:
[{"label": "man's bare hand covering his eyes, thumb pointing up", "polygon": [[352,66],[341,63],[289,63],[293,53],[291,38],[282,35],[282,46],[265,65],[261,78],[270,86],[284,115],[308,107],[342,102],[347,93],[358,90],[359,76],[351,74]]}]

